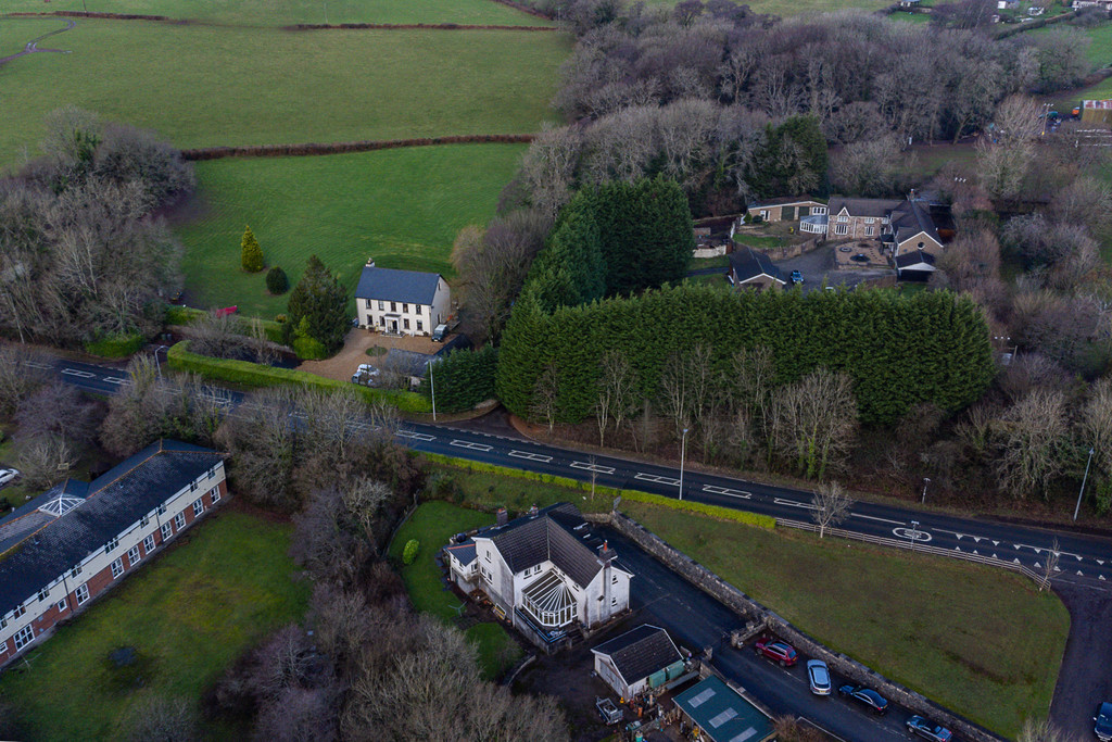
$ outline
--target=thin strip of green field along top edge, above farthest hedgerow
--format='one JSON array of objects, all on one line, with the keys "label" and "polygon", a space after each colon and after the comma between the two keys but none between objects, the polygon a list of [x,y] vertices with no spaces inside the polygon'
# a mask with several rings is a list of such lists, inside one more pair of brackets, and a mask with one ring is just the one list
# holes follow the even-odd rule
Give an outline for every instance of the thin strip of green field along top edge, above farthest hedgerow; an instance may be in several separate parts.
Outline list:
[{"label": "thin strip of green field along top edge, above farthest hedgerow", "polygon": [[546,26],[492,0],[4,0],[6,12],[89,10],[189,18],[212,23],[490,23]]}]

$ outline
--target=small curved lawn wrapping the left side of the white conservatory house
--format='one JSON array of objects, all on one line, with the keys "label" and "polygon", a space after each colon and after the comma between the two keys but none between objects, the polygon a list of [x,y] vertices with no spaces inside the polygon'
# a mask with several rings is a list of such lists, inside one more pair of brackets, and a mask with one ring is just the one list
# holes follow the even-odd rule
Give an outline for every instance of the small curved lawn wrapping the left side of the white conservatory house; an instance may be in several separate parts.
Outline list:
[{"label": "small curved lawn wrapping the left side of the white conservatory house", "polygon": [[[420,542],[416,561],[401,565],[401,578],[418,611],[430,613],[446,623],[458,615],[459,598],[444,587],[436,553],[453,535],[493,523],[494,516],[488,513],[430,502],[418,507],[398,528],[390,545],[390,556],[399,564],[406,542],[410,538]],[[500,624],[479,623],[464,633],[477,645],[479,665],[487,679],[502,675],[522,654],[520,647]]]}]

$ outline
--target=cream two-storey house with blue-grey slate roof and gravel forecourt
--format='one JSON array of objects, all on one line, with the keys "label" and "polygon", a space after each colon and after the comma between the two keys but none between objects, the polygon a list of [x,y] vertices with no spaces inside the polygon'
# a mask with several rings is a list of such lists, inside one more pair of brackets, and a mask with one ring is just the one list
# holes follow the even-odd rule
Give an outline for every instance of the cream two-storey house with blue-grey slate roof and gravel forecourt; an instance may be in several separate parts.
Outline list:
[{"label": "cream two-storey house with blue-grey slate roof and gravel forecourt", "polygon": [[440,274],[377,268],[368,260],[355,289],[359,326],[390,335],[430,335],[451,313]]}]

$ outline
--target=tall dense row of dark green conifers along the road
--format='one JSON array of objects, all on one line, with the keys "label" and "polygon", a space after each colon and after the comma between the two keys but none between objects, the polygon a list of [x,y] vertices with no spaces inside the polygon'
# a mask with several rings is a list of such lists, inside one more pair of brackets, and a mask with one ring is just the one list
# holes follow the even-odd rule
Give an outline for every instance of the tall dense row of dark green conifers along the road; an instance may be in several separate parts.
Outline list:
[{"label": "tall dense row of dark green conifers along the road", "polygon": [[844,370],[863,423],[894,422],[923,402],[961,409],[994,374],[980,308],[950,291],[757,294],[684,284],[552,313],[524,291],[503,335],[496,390],[513,413],[527,415],[537,378],[554,364],[558,419],[579,423],[592,415],[606,350],[623,352],[641,394],[656,400],[665,362],[697,343],[713,349],[723,373],[737,350],[757,346],[773,352],[780,383],[817,367]]}]

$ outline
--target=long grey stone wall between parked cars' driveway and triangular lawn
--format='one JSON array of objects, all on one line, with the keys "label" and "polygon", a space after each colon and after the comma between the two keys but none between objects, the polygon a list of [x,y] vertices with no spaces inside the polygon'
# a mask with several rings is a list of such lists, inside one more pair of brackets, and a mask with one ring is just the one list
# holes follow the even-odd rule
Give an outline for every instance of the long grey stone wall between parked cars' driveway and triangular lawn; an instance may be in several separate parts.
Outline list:
[{"label": "long grey stone wall between parked cars' driveway and triangular lawn", "polygon": [[597,515],[590,520],[596,523],[607,523],[618,533],[659,560],[669,570],[709,594],[745,621],[763,623],[768,632],[787,641],[804,654],[823,660],[833,670],[850,679],[850,681],[874,687],[886,699],[910,709],[914,713],[923,714],[936,723],[949,726],[965,739],[974,740],[975,742],[999,742],[1004,739],[935,704],[925,696],[884,677],[856,660],[852,660],[840,652],[834,652],[820,644],[742,591],[726,583],[722,577],[695,560],[669,546],[664,540],[633,518],[622,513],[614,513],[612,515]]}]

